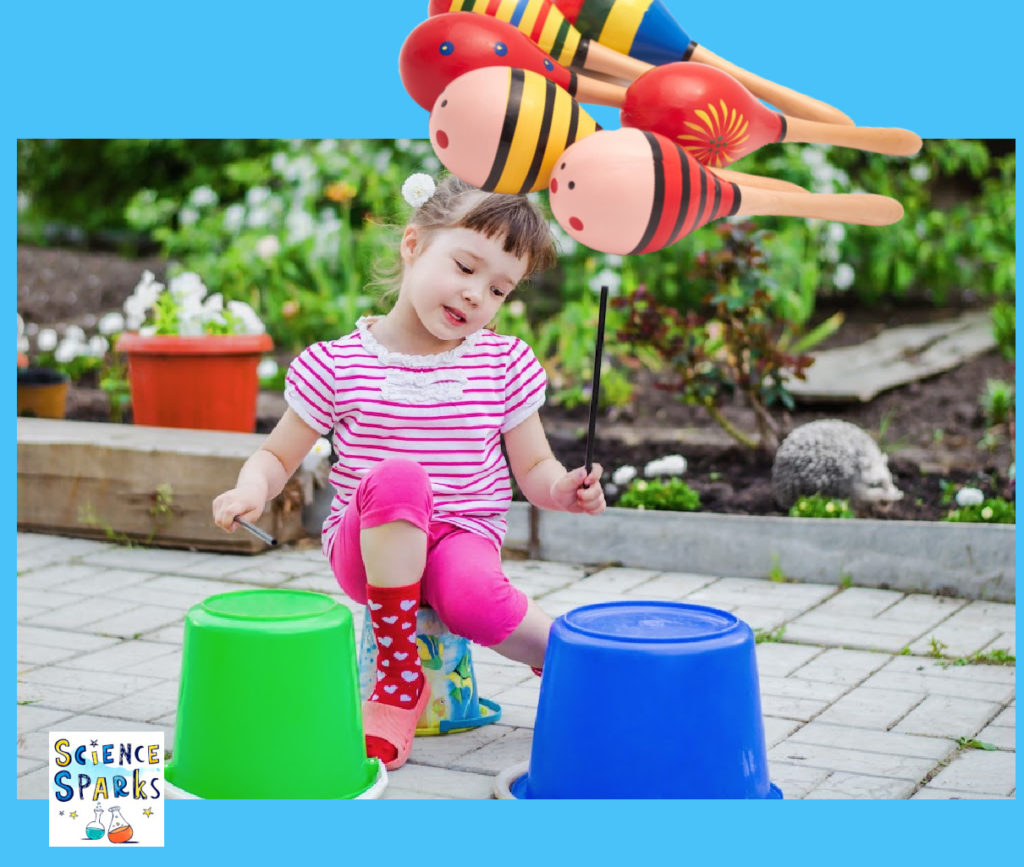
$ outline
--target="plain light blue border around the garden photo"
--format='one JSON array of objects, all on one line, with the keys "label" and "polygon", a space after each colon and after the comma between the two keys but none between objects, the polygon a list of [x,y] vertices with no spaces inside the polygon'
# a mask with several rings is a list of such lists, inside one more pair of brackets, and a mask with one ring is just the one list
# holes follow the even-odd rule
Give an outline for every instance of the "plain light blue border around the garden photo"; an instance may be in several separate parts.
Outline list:
[{"label": "plain light blue border around the garden photo", "polygon": [[[12,138],[425,137],[426,113],[402,90],[396,57],[425,15],[426,0],[398,0],[386,9],[376,0],[355,5],[7,4],[0,80]],[[892,0],[728,8],[668,0],[667,6],[711,50],[830,102],[862,125],[909,127],[924,137],[1013,138],[1020,129],[1017,16],[1005,0],[973,12],[963,4]],[[777,34],[774,43],[764,34]],[[366,82],[373,84],[352,90]],[[610,110],[595,115],[605,126],[617,125]],[[4,213],[13,277],[15,218]],[[13,299],[15,292],[6,295]],[[9,377],[2,382],[10,406],[13,384]],[[5,418],[10,491],[13,414]],[[12,572],[14,509],[8,495],[3,533]],[[11,581],[4,594],[11,619],[14,599]],[[13,655],[14,630],[5,636]],[[8,850],[34,860],[63,852],[99,857],[49,850],[43,803],[13,798],[7,706]],[[372,864],[378,829],[387,823],[408,824],[412,833],[384,862],[439,859],[443,846],[456,862],[517,867],[555,859],[817,866],[862,864],[865,857],[938,865],[1018,849],[1012,828],[1020,821],[1016,801],[179,801],[168,813],[165,849],[137,850],[139,859],[323,856]],[[300,825],[304,831],[296,831]]]}]

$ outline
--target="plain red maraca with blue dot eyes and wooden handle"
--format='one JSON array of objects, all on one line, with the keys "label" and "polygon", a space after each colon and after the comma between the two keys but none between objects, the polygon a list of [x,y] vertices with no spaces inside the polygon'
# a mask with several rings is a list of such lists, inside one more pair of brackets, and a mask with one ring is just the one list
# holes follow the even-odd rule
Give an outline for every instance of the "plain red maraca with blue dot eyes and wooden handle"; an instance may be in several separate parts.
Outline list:
[{"label": "plain red maraca with blue dot eyes and wooden handle", "polygon": [[625,96],[618,85],[578,76],[521,31],[490,15],[445,12],[427,18],[409,34],[398,55],[406,90],[428,112],[451,82],[482,67],[530,70],[584,102],[622,105]]}]

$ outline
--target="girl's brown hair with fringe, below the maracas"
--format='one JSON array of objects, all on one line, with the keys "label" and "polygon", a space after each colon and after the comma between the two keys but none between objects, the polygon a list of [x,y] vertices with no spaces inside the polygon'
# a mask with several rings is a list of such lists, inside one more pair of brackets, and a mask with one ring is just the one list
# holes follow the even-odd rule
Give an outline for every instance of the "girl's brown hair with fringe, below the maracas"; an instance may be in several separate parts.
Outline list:
[{"label": "girl's brown hair with fringe, below the maracas", "polygon": [[[434,193],[413,214],[410,223],[423,230],[425,243],[440,229],[468,228],[487,237],[501,236],[506,253],[525,257],[523,275],[547,270],[557,261],[554,239],[547,220],[525,196],[484,192],[455,175],[446,175]],[[397,293],[401,260],[378,273],[384,299]]]}]

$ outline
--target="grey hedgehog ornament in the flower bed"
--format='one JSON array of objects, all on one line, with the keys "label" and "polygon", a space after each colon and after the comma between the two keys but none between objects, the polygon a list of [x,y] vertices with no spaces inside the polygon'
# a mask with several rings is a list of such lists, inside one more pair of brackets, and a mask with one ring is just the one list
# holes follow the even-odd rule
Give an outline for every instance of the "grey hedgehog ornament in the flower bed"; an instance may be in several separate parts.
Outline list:
[{"label": "grey hedgehog ornament in the flower bed", "polygon": [[772,465],[771,487],[782,509],[815,493],[849,500],[861,509],[903,497],[878,443],[856,425],[839,419],[801,425],[782,440]]}]

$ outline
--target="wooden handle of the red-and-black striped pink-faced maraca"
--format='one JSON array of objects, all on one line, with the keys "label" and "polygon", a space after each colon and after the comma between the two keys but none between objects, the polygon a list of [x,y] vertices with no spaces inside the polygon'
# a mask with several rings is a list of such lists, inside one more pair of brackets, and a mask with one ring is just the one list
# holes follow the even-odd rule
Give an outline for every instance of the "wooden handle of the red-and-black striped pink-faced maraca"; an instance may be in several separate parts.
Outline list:
[{"label": "wooden handle of the red-and-black striped pink-faced maraca", "polygon": [[812,217],[865,226],[888,226],[903,216],[895,199],[868,192],[785,192],[739,184],[739,194],[733,213],[741,216]]}]

